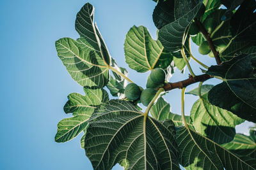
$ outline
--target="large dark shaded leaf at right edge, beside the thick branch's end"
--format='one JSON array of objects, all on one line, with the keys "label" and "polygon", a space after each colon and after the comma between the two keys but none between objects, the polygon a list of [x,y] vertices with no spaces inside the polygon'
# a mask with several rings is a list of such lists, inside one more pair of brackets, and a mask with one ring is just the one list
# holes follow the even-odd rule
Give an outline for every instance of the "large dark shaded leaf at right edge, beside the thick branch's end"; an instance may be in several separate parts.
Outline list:
[{"label": "large dark shaded leaf at right edge, beside the thick branch's end", "polygon": [[207,74],[223,78],[209,92],[209,102],[245,120],[256,122],[256,78],[252,55],[239,55],[220,66],[209,67]]}]

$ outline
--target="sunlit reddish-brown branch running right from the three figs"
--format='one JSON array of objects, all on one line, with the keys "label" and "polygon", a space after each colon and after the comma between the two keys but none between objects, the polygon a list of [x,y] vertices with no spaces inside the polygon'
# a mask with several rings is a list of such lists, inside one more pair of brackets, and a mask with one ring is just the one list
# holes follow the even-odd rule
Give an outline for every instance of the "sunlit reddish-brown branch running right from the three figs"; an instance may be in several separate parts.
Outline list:
[{"label": "sunlit reddish-brown branch running right from the three figs", "polygon": [[210,76],[209,74],[201,74],[195,77],[189,75],[189,78],[186,80],[178,81],[175,83],[165,83],[163,88],[164,88],[164,91],[169,91],[172,89],[182,89],[183,87],[187,87],[188,85],[191,85],[196,82],[208,80],[209,78],[212,78],[212,77],[213,76]]}]

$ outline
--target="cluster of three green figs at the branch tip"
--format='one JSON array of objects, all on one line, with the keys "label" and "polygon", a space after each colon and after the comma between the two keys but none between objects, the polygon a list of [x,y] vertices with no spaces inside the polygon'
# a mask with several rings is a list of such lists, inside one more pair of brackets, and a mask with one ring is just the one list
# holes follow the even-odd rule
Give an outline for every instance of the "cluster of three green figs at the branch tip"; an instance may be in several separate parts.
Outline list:
[{"label": "cluster of three green figs at the branch tip", "polygon": [[163,69],[152,69],[147,78],[147,89],[143,89],[136,85],[136,83],[129,83],[125,87],[125,97],[131,101],[139,101],[144,106],[148,106],[150,101],[154,98],[157,92],[157,87],[164,85],[166,74]]}]

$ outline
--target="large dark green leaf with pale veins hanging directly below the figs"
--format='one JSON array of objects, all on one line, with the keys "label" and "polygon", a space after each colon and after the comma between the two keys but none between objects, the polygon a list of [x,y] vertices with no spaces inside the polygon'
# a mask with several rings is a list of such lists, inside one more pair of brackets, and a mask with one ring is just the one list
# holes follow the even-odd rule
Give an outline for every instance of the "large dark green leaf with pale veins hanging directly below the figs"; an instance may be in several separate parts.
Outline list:
[{"label": "large dark green leaf with pale veins hanging directly below the figs", "polygon": [[90,118],[85,151],[94,169],[180,169],[172,120],[160,122],[127,101],[100,104]]}]

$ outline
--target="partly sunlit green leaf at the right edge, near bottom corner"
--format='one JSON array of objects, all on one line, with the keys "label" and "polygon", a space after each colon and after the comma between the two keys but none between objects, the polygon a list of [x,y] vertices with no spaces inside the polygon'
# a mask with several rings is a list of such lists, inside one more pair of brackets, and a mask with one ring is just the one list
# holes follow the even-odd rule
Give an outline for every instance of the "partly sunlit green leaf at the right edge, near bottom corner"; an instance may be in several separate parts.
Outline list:
[{"label": "partly sunlit green leaf at the right edge, near bottom corner", "polygon": [[230,143],[225,143],[221,146],[237,155],[244,155],[256,159],[256,143],[244,134],[236,134]]}]

